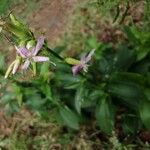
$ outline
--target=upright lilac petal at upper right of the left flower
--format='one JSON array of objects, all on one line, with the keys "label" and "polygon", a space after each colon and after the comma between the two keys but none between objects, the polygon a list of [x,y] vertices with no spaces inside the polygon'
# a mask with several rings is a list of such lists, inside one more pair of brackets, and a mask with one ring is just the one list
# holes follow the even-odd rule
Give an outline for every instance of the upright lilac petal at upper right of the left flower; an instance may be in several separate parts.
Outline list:
[{"label": "upright lilac petal at upper right of the left flower", "polygon": [[43,47],[43,45],[44,45],[44,40],[45,40],[45,37],[44,37],[44,36],[41,36],[41,37],[37,40],[36,47],[33,48],[33,50],[32,50],[32,55],[33,55],[33,56],[36,56],[37,53],[39,52],[39,50]]}]

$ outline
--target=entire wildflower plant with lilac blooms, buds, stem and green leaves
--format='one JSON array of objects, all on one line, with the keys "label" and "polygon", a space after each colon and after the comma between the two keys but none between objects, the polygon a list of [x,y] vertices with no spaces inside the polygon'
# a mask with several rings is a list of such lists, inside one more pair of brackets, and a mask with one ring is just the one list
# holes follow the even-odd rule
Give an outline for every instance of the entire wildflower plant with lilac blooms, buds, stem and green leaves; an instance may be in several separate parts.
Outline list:
[{"label": "entire wildflower plant with lilac blooms, buds, stem and green leaves", "polygon": [[[43,35],[36,39],[12,14],[9,20],[3,20],[1,28],[16,49],[16,59],[5,74],[13,88],[3,90],[0,98],[10,112],[19,111],[23,105],[49,118],[51,111],[55,121],[75,130],[96,119],[101,131],[107,134],[115,130],[120,112],[124,133],[150,130],[148,32],[125,27],[130,41],[115,48],[110,44],[92,44],[91,51],[78,60],[63,58],[56,49],[51,50]],[[25,71],[30,64],[34,78],[22,81],[11,76],[19,72],[19,67]]]}]

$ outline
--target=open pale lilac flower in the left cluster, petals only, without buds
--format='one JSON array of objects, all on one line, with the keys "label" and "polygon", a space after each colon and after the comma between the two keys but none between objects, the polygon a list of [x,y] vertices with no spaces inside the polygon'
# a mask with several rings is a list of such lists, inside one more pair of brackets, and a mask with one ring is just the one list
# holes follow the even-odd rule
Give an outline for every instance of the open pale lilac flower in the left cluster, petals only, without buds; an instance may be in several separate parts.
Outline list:
[{"label": "open pale lilac flower in the left cluster, petals only, without buds", "polygon": [[[28,48],[26,47],[17,47],[15,46],[18,54],[25,59],[24,64],[22,66],[23,70],[26,70],[30,63],[32,62],[46,62],[49,61],[49,57],[45,57],[45,56],[37,56],[38,52],[41,50],[41,48],[44,45],[44,40],[45,38],[42,36],[38,39],[37,44],[35,47],[33,47],[31,50],[28,46]],[[51,62],[52,63],[52,62]]]}]

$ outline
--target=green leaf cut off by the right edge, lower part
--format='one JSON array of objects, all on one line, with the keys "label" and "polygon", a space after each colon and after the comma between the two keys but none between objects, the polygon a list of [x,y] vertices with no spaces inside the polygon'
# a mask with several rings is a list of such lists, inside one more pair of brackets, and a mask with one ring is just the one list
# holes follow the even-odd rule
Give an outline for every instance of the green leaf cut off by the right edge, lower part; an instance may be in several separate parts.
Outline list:
[{"label": "green leaf cut off by the right edge, lower part", "polygon": [[150,102],[143,100],[140,105],[139,112],[143,124],[150,130]]}]

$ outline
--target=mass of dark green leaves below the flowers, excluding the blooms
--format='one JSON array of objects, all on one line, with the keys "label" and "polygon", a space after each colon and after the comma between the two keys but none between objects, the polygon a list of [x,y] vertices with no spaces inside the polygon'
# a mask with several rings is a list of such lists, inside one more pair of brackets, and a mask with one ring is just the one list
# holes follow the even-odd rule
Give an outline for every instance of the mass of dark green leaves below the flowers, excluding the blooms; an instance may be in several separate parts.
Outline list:
[{"label": "mass of dark green leaves below the flowers, excluding the blooms", "polygon": [[[90,119],[96,114],[101,130],[108,134],[114,130],[116,111],[123,108],[120,115],[126,120],[122,125],[125,132],[137,132],[142,126],[149,129],[149,51],[139,59],[139,47],[146,47],[144,52],[149,50],[149,36],[143,32],[142,40],[146,42],[137,45],[133,36],[138,29],[134,29],[136,34],[133,27],[125,29],[128,45],[114,49],[101,43],[88,74],[73,76],[69,66],[58,62],[52,76],[48,64],[43,64],[40,76],[30,82],[12,79],[12,91],[2,91],[1,103],[10,112],[25,105],[47,117],[49,110],[56,109],[62,123],[74,129],[79,129],[85,117]],[[136,120],[137,130],[127,118]]]}]

